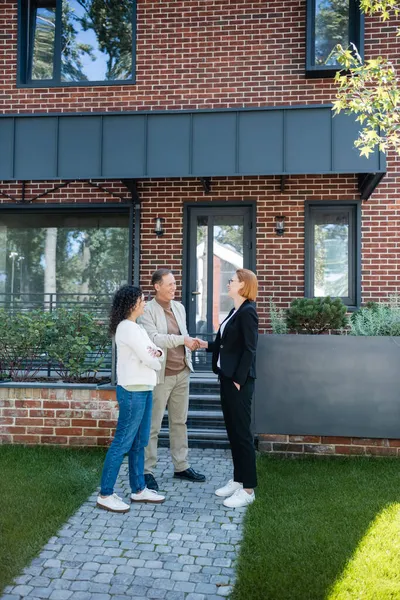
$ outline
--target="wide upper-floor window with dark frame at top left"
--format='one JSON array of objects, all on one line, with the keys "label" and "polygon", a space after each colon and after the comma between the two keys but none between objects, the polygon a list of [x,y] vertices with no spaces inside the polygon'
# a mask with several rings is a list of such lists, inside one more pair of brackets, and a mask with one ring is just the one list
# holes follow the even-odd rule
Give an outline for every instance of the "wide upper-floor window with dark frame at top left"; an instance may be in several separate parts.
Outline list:
[{"label": "wide upper-floor window with dark frame at top left", "polygon": [[133,83],[136,0],[20,0],[19,83]]}]

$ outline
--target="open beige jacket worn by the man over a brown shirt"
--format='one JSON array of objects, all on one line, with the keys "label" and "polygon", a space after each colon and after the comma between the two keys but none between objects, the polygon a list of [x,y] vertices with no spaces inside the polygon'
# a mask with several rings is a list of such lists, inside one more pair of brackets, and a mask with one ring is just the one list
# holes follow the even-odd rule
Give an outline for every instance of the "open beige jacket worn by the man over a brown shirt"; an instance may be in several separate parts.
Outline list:
[{"label": "open beige jacket worn by the man over a brown shirt", "polygon": [[[138,319],[138,323],[143,325],[153,344],[159,348],[163,348],[166,354],[165,360],[161,363],[161,370],[157,372],[157,383],[164,383],[165,381],[165,365],[168,359],[168,348],[183,346],[185,336],[189,335],[186,326],[186,311],[183,304],[172,300],[171,309],[182,335],[168,333],[168,323],[164,309],[154,298],[146,304],[144,314]],[[185,362],[189,369],[193,371],[192,353],[186,346]]]}]

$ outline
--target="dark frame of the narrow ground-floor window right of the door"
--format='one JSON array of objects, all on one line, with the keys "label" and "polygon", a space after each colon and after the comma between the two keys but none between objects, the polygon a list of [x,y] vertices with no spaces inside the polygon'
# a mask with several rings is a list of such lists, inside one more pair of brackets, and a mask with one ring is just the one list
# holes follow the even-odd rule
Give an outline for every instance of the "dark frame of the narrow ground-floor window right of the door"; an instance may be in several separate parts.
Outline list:
[{"label": "dark frame of the narrow ground-floor window right of the door", "polygon": [[322,211],[349,212],[349,297],[341,298],[349,311],[361,303],[361,201],[306,201],[304,211],[304,296],[314,298],[314,219]]}]

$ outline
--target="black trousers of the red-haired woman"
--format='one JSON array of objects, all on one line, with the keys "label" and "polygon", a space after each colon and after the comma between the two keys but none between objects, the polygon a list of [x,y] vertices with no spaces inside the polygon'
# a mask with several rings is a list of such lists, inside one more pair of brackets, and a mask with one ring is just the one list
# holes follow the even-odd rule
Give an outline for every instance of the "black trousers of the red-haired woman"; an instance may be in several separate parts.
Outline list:
[{"label": "black trousers of the red-haired woman", "polygon": [[231,445],[233,480],[243,483],[247,489],[257,485],[256,452],[251,433],[251,401],[254,379],[248,377],[238,390],[232,379],[219,376],[221,405],[226,431]]}]

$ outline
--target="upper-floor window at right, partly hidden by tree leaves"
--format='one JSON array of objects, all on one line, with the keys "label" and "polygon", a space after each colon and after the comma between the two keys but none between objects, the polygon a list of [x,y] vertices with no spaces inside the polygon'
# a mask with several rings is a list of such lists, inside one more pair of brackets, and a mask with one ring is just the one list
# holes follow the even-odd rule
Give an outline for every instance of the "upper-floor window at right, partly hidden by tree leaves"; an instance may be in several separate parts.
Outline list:
[{"label": "upper-floor window at right, partly hidden by tree leaves", "polygon": [[353,43],[364,52],[364,17],[358,0],[307,0],[306,73],[332,77],[340,65],[331,57],[336,44]]}]

